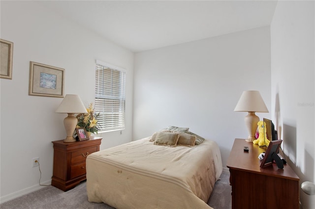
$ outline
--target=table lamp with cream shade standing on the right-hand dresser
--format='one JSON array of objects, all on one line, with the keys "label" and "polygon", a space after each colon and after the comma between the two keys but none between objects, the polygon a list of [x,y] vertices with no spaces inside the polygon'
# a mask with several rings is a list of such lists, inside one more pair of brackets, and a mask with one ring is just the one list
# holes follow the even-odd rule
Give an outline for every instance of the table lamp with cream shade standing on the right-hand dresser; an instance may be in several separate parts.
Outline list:
[{"label": "table lamp with cream shade standing on the right-hand dresser", "polygon": [[249,134],[246,141],[252,142],[256,139],[255,132],[259,122],[259,117],[255,115],[255,112],[269,112],[259,91],[244,91],[234,111],[248,112],[244,119]]}]

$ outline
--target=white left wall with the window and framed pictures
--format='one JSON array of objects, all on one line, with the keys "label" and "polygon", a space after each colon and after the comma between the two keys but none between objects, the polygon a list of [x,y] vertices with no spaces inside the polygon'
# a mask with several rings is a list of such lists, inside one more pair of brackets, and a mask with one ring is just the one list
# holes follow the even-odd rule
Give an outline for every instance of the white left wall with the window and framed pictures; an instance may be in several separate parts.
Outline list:
[{"label": "white left wall with the window and framed pictures", "polygon": [[0,79],[1,202],[39,187],[53,174],[52,141],[65,137],[55,113],[62,98],[29,96],[30,61],[65,69],[65,94],[94,102],[95,59],[126,69],[126,130],[100,134],[100,149],[131,141],[133,53],[41,7],[36,1],[1,1],[1,39],[14,43],[13,76]]}]

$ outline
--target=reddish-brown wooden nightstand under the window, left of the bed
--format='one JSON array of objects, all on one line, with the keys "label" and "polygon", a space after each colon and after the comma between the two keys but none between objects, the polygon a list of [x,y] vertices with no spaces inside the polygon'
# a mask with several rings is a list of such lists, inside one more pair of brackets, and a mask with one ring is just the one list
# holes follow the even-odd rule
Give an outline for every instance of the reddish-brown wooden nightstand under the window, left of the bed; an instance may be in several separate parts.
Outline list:
[{"label": "reddish-brown wooden nightstand under the window, left of the bed", "polygon": [[90,136],[89,140],[76,142],[53,141],[54,171],[51,185],[67,191],[86,180],[85,160],[99,151],[102,138]]}]

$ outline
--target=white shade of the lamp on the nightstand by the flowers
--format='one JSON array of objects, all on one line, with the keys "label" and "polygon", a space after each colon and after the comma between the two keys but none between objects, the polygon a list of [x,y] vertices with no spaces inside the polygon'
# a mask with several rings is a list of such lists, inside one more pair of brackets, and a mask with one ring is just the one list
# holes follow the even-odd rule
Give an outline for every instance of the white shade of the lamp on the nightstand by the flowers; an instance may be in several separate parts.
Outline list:
[{"label": "white shade of the lamp on the nightstand by the flowers", "polygon": [[88,113],[79,95],[67,94],[56,113]]}]

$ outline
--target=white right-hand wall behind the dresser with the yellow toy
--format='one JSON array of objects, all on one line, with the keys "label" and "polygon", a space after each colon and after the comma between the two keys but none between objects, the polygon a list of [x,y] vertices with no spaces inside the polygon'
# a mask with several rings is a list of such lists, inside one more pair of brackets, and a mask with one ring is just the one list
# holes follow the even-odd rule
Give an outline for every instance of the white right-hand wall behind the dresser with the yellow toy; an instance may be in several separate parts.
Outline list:
[{"label": "white right-hand wall behind the dresser with the yellow toy", "polygon": [[[278,1],[271,24],[272,119],[287,161],[304,181],[315,182],[315,3]],[[304,209],[315,196],[300,191]]]}]

